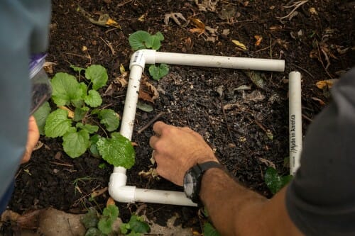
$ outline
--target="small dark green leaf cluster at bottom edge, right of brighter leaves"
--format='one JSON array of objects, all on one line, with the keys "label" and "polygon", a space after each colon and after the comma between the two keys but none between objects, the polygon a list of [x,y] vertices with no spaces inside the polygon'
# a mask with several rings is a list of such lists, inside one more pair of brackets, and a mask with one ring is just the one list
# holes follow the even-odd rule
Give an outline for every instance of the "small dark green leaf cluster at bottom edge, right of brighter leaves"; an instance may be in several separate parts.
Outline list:
[{"label": "small dark green leaf cluster at bottom edge, right of brighter leaves", "polygon": [[149,230],[151,230],[151,228],[143,220],[143,218],[138,215],[131,215],[129,223],[122,223],[119,228],[121,230],[121,233],[129,236],[140,236],[141,234],[149,232]]}]

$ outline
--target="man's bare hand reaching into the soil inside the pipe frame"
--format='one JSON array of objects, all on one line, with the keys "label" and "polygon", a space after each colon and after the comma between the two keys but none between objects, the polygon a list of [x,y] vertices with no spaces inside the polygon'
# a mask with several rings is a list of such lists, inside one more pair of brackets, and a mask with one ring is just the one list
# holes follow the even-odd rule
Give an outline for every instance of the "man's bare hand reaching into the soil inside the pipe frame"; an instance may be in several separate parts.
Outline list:
[{"label": "man's bare hand reaching into the soil inside the pipe frame", "polygon": [[157,172],[182,186],[185,173],[197,163],[218,162],[203,137],[187,127],[175,127],[161,121],[153,125],[155,135],[149,145],[157,162]]}]

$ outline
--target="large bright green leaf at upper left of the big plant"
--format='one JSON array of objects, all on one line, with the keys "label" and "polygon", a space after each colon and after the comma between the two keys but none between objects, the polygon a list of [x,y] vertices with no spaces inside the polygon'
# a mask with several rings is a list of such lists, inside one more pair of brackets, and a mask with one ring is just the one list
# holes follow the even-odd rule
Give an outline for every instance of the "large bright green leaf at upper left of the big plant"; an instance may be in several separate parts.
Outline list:
[{"label": "large bright green leaf at upper left of the big plant", "polygon": [[82,89],[74,76],[59,72],[50,80],[52,99],[58,106],[70,105],[72,101],[82,99]]}]

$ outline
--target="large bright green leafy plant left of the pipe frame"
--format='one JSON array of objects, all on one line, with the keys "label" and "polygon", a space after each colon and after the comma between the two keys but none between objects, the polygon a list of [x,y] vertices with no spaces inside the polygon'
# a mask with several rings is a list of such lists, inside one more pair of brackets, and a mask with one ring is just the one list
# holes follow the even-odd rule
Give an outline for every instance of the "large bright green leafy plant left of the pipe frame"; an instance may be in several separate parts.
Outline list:
[{"label": "large bright green leafy plant left of the pipe frame", "polygon": [[[97,64],[86,69],[72,68],[84,71],[84,82],[78,82],[71,74],[55,74],[50,83],[57,108],[51,111],[49,103],[44,103],[35,113],[41,133],[62,137],[63,150],[72,158],[89,150],[94,157],[102,157],[116,167],[131,168],[135,158],[131,141],[114,132],[119,127],[119,115],[111,109],[99,108],[102,97],[98,89],[107,85],[106,69]],[[99,128],[105,137],[98,134]]]}]

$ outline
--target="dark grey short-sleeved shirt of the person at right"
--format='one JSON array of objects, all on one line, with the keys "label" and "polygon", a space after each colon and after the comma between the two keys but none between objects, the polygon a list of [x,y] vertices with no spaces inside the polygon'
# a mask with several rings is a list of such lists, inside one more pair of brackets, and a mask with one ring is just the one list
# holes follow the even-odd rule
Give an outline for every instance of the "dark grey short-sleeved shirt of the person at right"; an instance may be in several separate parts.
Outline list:
[{"label": "dark grey short-sleeved shirt of the person at right", "polygon": [[332,88],[332,103],[305,137],[286,207],[305,235],[355,235],[355,69]]}]

